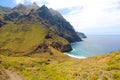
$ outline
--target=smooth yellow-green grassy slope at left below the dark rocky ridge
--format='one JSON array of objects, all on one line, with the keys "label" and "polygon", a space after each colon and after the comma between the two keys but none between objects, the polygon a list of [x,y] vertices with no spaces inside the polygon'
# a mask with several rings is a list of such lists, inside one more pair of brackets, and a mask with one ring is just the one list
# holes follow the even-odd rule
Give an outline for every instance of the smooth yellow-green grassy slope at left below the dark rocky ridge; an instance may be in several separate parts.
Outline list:
[{"label": "smooth yellow-green grassy slope at left below the dark rocky ridge", "polygon": [[45,29],[38,24],[23,26],[9,23],[0,29],[1,52],[30,52],[43,41],[44,37]]}]

